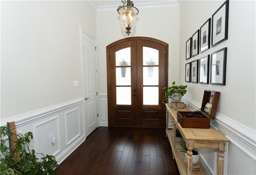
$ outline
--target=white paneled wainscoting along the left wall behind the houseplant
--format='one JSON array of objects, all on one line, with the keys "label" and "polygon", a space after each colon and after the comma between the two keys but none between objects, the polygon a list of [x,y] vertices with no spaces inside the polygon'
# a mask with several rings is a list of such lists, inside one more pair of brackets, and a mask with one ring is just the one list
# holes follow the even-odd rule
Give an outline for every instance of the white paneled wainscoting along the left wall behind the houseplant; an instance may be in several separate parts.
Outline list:
[{"label": "white paneled wainscoting along the left wall behind the houseplant", "polygon": [[61,163],[85,140],[83,103],[84,99],[79,98],[24,113],[1,120],[1,126],[15,121],[17,132],[32,131],[34,138],[30,148],[44,155],[54,155]]}]

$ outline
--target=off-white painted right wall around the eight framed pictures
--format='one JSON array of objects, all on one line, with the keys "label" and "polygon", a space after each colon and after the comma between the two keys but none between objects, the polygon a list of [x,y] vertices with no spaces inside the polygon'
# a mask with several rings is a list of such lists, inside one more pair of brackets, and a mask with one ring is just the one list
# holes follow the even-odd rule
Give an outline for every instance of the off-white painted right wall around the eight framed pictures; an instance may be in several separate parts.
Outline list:
[{"label": "off-white painted right wall around the eight framed pictures", "polygon": [[[185,97],[202,103],[204,89],[220,91],[218,113],[256,129],[255,93],[255,1],[229,2],[228,40],[185,60],[186,41],[224,1],[182,1],[180,4],[181,84],[188,85]],[[185,64],[227,47],[226,86],[187,83]]]}]

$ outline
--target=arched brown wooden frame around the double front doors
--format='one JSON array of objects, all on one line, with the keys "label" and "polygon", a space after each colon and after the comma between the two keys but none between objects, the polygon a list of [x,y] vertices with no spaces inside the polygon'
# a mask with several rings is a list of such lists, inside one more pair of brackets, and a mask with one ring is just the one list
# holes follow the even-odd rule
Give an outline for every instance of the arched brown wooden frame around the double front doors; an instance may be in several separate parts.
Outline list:
[{"label": "arched brown wooden frame around the double front doors", "polygon": [[[109,44],[108,46],[106,46],[106,59],[108,60],[110,58],[110,48],[112,48],[113,46],[116,46],[120,43],[123,42],[128,42],[128,41],[138,41],[138,40],[144,40],[144,41],[151,41],[151,42],[156,42],[157,44],[161,44],[162,46],[164,46],[165,48],[165,70],[167,71],[167,74],[164,75],[164,84],[165,87],[168,86],[168,48],[169,45],[166,42],[163,42],[161,40],[158,40],[156,38],[150,38],[150,37],[143,37],[143,36],[135,36],[135,37],[128,37],[128,38],[123,38],[121,40],[117,40],[111,44]],[[107,61],[108,63],[108,61]],[[107,74],[110,72],[110,66],[107,64]],[[108,93],[108,105],[111,104],[111,99],[109,97],[110,92],[110,76],[107,76],[107,93]],[[165,111],[165,107],[164,107],[164,111]],[[164,120],[165,122],[165,120]],[[108,126],[111,126],[111,111],[109,110],[108,107]]]}]

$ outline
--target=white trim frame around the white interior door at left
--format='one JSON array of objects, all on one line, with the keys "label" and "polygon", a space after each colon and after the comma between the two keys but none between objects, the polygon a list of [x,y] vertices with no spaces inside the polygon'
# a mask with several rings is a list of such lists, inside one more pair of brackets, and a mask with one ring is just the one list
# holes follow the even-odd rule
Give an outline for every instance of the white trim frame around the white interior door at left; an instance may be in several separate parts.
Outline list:
[{"label": "white trim frame around the white interior door at left", "polygon": [[[83,115],[85,114],[85,106],[84,106],[84,60],[83,60],[83,51],[82,51],[82,33],[88,35],[90,38],[92,38],[95,41],[95,47],[98,48],[98,40],[96,37],[94,37],[92,34],[90,34],[82,25],[79,25],[79,32],[80,32],[80,61],[81,61],[81,88],[82,88],[82,98],[83,98]],[[95,50],[95,67],[96,67],[96,91],[99,91],[99,85],[98,85],[98,52],[97,49]],[[97,100],[97,113],[99,113],[99,95],[96,97]],[[83,117],[84,121],[84,135],[86,135],[86,125],[85,125],[85,118]],[[99,119],[97,120],[97,125],[99,126]]]}]

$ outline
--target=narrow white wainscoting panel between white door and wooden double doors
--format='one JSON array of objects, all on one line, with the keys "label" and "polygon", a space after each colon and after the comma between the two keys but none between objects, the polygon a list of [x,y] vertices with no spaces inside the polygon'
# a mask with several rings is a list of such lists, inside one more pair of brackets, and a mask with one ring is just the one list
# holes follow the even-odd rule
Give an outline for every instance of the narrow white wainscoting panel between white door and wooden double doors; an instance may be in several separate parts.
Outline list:
[{"label": "narrow white wainscoting panel between white door and wooden double doors", "polygon": [[108,126],[108,97],[99,94],[99,126]]}]

